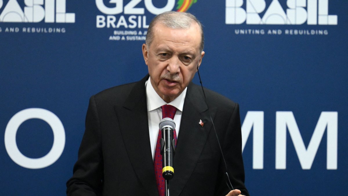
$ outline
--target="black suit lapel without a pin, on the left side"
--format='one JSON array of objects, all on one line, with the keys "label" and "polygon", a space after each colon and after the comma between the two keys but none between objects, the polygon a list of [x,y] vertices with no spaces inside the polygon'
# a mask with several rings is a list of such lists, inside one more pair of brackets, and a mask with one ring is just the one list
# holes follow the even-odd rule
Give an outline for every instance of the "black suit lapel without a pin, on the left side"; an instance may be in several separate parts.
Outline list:
[{"label": "black suit lapel without a pin, on the left side", "polygon": [[130,163],[149,195],[158,195],[151,155],[145,81],[135,83],[122,106],[115,106]]}]

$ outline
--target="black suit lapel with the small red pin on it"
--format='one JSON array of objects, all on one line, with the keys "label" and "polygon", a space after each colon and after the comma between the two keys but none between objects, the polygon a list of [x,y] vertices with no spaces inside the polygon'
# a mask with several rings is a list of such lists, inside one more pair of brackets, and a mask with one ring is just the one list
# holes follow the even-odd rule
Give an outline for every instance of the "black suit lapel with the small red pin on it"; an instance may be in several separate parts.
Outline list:
[{"label": "black suit lapel with the small red pin on it", "polygon": [[[192,84],[188,86],[185,97],[180,133],[174,156],[174,178],[171,180],[171,193],[180,195],[196,167],[205,146],[212,123],[205,104],[203,93]],[[210,111],[212,118],[214,114]],[[199,121],[204,122],[202,127]]]}]

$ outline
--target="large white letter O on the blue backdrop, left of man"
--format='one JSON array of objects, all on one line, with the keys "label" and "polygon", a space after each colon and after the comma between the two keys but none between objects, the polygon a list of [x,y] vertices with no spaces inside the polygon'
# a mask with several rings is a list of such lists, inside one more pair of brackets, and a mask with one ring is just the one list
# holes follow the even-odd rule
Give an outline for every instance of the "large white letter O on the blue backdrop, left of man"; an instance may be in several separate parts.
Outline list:
[{"label": "large white letter O on the blue backdrop, left of man", "polygon": [[[29,158],[18,149],[16,134],[19,126],[29,119],[41,119],[53,131],[52,149],[41,158]],[[5,130],[5,148],[10,158],[18,165],[29,169],[40,169],[52,165],[61,156],[65,146],[65,131],[62,122],[52,112],[42,108],[28,108],[19,111],[8,122]]]}]

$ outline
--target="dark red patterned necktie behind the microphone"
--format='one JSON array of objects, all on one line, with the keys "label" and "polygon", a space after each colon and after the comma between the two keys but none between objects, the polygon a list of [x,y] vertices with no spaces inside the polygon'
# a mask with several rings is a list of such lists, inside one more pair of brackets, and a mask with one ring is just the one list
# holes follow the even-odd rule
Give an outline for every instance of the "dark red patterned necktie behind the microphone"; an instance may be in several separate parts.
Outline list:
[{"label": "dark red patterned necktie behind the microphone", "polygon": [[[171,118],[174,119],[174,115],[176,113],[176,107],[172,105],[163,105],[162,108],[162,119],[164,118]],[[165,195],[165,186],[164,186],[164,178],[162,176],[162,155],[161,155],[161,144],[160,144],[160,138],[162,137],[162,131],[159,130],[158,137],[157,137],[157,144],[156,144],[156,150],[155,150],[155,159],[153,160],[153,166],[155,167],[155,175],[156,175],[156,182],[157,182],[157,188],[159,196]],[[175,145],[176,145],[176,131],[174,129],[174,138],[175,138]]]}]

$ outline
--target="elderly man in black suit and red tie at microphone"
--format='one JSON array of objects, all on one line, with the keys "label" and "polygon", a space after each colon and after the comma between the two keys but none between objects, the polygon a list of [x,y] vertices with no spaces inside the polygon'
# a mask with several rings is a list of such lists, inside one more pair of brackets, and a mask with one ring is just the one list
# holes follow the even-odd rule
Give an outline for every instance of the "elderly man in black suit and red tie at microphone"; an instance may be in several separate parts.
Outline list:
[{"label": "elderly man in black suit and red tie at microphone", "polygon": [[152,20],[142,46],[149,74],[90,98],[68,195],[164,195],[158,124],[165,117],[176,123],[171,195],[248,195],[238,104],[207,89],[205,100],[191,83],[203,47],[195,16],[165,12]]}]

